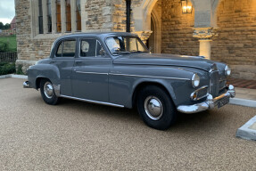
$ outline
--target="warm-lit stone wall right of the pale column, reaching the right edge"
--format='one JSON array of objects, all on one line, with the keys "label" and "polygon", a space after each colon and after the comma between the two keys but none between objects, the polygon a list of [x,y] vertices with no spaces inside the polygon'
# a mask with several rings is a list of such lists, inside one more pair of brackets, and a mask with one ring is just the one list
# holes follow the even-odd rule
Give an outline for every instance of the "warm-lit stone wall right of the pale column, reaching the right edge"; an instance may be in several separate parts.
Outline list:
[{"label": "warm-lit stone wall right of the pale column, reaching the right edge", "polygon": [[232,77],[256,79],[256,1],[223,0],[217,11],[217,33],[211,59],[233,68]]}]

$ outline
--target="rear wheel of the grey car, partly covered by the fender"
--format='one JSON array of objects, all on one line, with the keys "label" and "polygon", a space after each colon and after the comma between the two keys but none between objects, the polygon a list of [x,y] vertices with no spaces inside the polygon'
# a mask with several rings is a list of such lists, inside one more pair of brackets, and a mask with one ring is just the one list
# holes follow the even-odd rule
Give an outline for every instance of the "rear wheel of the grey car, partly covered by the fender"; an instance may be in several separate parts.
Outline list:
[{"label": "rear wheel of the grey car, partly covered by the fender", "polygon": [[59,102],[59,97],[54,93],[54,85],[48,79],[41,80],[40,93],[47,104],[55,105]]}]

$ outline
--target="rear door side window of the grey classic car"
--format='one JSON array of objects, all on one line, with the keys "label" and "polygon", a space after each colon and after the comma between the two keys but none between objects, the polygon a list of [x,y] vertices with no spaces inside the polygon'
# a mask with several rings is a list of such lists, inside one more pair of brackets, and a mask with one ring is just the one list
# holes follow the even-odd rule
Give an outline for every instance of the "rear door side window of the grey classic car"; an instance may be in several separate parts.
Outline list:
[{"label": "rear door side window of the grey classic car", "polygon": [[76,40],[64,40],[59,45],[56,57],[74,57],[76,54]]}]

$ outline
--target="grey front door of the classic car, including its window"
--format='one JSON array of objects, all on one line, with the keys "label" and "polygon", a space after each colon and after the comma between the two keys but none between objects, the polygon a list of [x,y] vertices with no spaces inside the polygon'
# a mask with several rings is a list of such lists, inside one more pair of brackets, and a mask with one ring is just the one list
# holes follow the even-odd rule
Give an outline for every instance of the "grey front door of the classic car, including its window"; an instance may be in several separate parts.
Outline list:
[{"label": "grey front door of the classic car, including its window", "polygon": [[81,38],[78,58],[72,72],[72,88],[75,97],[109,102],[108,83],[111,58],[101,55],[102,45],[96,38]]}]

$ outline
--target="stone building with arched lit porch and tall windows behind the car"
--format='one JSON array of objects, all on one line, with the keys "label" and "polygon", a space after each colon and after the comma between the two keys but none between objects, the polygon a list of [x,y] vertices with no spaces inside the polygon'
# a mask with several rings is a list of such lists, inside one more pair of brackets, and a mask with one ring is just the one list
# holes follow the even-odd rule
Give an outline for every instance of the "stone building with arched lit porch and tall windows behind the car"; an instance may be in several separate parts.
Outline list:
[{"label": "stone building with arched lit porch and tall windows behind the car", "polygon": [[[56,37],[126,31],[126,0],[15,0],[17,64],[46,58]],[[223,61],[256,79],[256,0],[131,0],[131,31],[153,53]]]}]

